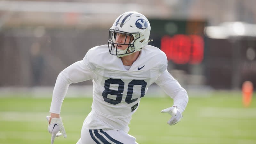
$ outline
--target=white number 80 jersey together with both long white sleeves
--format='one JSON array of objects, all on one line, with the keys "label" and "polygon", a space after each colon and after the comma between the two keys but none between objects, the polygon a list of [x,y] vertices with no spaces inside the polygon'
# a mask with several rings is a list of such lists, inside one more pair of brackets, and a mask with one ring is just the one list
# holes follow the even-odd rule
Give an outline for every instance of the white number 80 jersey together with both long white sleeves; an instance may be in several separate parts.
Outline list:
[{"label": "white number 80 jersey together with both long white sleeves", "polygon": [[[152,83],[157,83],[174,98],[174,105],[178,93],[187,97],[186,90],[166,70],[167,58],[164,52],[150,45],[140,52],[127,70],[121,58],[109,54],[108,45],[91,48],[83,61],[72,64],[58,76],[50,112],[60,113],[70,83],[89,79],[93,82],[93,102],[92,112],[84,120],[83,127],[87,129],[122,129],[128,132],[132,114],[138,109],[140,99]],[[183,112],[187,103],[176,100],[176,105]]]}]

